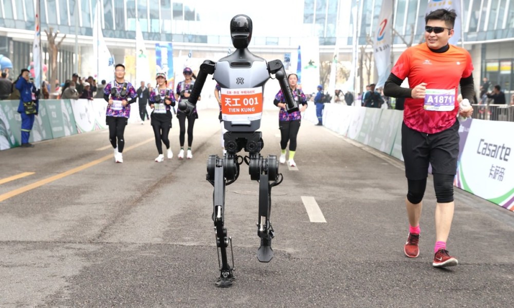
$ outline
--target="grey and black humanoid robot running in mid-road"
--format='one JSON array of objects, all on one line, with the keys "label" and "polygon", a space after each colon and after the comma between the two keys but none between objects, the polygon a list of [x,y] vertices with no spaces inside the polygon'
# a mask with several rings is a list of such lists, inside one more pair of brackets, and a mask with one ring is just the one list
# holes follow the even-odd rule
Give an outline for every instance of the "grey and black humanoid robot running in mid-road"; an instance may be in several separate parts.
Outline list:
[{"label": "grey and black humanoid robot running in mid-road", "polygon": [[[269,220],[271,211],[271,187],[282,182],[279,174],[277,156],[269,155],[266,159],[260,155],[264,146],[262,132],[256,131],[261,126],[263,109],[263,90],[265,83],[274,74],[279,81],[288,105],[288,112],[298,110],[293,94],[287,82],[284,66],[280,60],[267,63],[263,58],[252,54],[248,45],[252,37],[252,21],[246,15],[236,15],[230,21],[232,44],[236,48],[232,54],[220,59],[217,63],[206,60],[200,65],[188,100],[182,100],[178,108],[186,114],[192,112],[196,105],[201,88],[208,74],[221,86],[222,118],[224,120],[225,149],[227,153],[221,158],[210,155],[207,161],[207,181],[214,186],[213,214],[216,246],[218,248],[218,264],[221,272],[216,285],[228,287],[232,285],[233,260],[232,238],[227,236],[225,221],[225,187],[234,183],[240,173],[240,165],[245,162],[249,166],[251,180],[259,182],[259,217],[257,235],[261,238],[261,246],[257,251],[260,262],[269,262],[273,257],[271,239],[273,228]],[[238,156],[237,152],[244,149],[248,156]],[[230,242],[232,266],[228,263],[227,247]],[[221,261],[219,256],[221,255]]]}]

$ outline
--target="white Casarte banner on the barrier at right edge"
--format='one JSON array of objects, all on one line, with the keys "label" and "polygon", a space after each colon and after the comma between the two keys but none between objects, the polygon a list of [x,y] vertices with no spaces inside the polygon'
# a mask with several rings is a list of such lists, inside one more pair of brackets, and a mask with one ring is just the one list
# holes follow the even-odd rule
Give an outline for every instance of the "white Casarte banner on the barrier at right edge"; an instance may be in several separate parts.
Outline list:
[{"label": "white Casarte banner on the barrier at right edge", "polygon": [[473,119],[458,166],[461,188],[503,207],[514,202],[513,122]]}]

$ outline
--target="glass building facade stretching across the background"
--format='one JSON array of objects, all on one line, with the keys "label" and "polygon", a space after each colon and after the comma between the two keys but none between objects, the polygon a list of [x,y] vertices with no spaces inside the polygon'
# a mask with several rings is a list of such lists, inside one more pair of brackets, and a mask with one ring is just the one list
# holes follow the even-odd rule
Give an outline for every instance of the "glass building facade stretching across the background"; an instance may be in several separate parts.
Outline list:
[{"label": "glass building facade stretching across the background", "polygon": [[[59,63],[63,66],[69,59],[76,61],[73,60],[77,58],[73,55],[73,39],[70,39],[76,33],[85,37],[79,44],[81,56],[90,50],[92,43],[87,40],[92,40],[97,6],[102,10],[101,26],[106,41],[111,44],[109,49],[124,50],[133,45],[136,20],[140,22],[145,41],[172,42],[176,50],[183,46],[186,53],[194,50],[195,44],[203,50],[230,46],[229,20],[221,19],[226,18],[221,12],[240,10],[258,16],[252,17],[254,25],[263,19],[270,25],[265,31],[254,30],[253,46],[262,50],[268,48],[270,53],[283,53],[295,50],[293,43],[302,37],[316,35],[320,53],[327,56],[336,45],[340,53],[351,52],[354,33],[357,33],[357,44],[366,46],[366,37],[374,37],[382,6],[382,0],[262,0],[253,7],[251,3],[231,0],[0,0],[0,54],[19,55],[12,59],[15,69],[30,62],[29,33],[34,29],[36,1],[41,1],[41,28],[52,27],[58,29],[60,35],[67,35],[68,41],[60,51]],[[462,0],[462,3],[462,40],[473,56],[475,72],[479,72],[475,80],[488,76],[493,84],[497,82],[508,91],[514,91],[514,1]],[[397,34],[393,50],[405,48],[406,42],[417,44],[423,40],[427,6],[425,0],[394,1]],[[280,14],[274,14],[276,11]],[[280,18],[285,18],[286,27],[277,27],[284,25]],[[219,22],[221,20],[223,22]],[[109,43],[109,38],[116,39],[117,43]],[[71,75],[68,69],[69,65],[60,67],[59,74]]]}]

